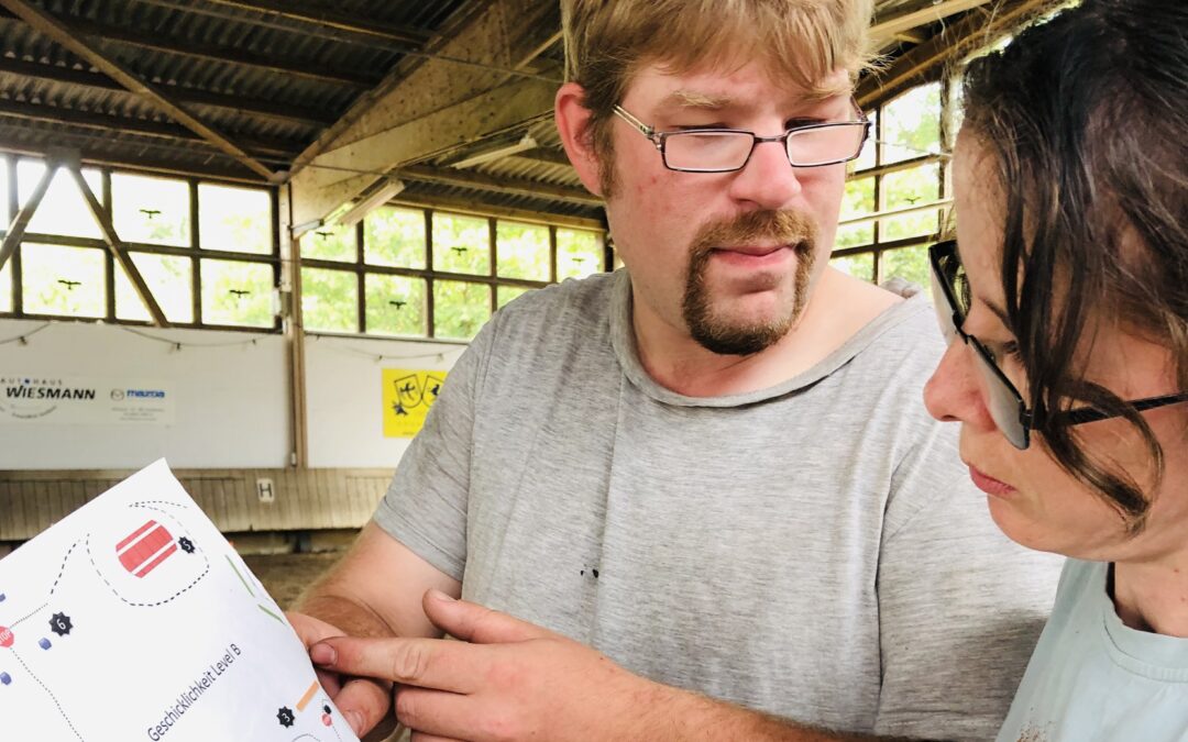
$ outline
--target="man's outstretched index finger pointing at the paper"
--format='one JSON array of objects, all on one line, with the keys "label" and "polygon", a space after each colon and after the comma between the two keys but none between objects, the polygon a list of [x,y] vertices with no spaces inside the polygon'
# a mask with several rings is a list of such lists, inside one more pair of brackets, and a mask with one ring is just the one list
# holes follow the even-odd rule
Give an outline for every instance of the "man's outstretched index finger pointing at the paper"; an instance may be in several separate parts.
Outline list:
[{"label": "man's outstretched index finger pointing at the paper", "polygon": [[480,647],[442,639],[336,636],[311,647],[310,657],[324,670],[455,693],[470,692],[487,672]]}]

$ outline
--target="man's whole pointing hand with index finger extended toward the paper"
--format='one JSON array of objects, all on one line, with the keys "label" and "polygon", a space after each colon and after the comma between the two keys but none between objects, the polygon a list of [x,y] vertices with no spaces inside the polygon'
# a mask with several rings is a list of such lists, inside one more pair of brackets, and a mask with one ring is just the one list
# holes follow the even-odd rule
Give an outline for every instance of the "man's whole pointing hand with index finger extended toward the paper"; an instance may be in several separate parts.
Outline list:
[{"label": "man's whole pointing hand with index finger extended toward the paper", "polygon": [[[665,689],[560,634],[430,590],[425,615],[462,641],[328,636],[326,670],[400,685],[413,740],[623,740]],[[619,724],[626,724],[619,725]]]}]

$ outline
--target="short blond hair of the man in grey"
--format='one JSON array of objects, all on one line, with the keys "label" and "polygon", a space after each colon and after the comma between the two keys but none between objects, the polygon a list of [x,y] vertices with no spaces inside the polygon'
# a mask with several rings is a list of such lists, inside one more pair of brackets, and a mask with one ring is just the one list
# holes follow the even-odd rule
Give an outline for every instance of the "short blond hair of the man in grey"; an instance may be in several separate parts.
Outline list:
[{"label": "short blond hair of the man in grey", "polygon": [[758,61],[810,95],[838,93],[822,81],[836,70],[853,81],[868,63],[872,12],[873,0],[561,0],[565,78],[584,89],[604,191],[614,106],[643,65],[681,74]]}]

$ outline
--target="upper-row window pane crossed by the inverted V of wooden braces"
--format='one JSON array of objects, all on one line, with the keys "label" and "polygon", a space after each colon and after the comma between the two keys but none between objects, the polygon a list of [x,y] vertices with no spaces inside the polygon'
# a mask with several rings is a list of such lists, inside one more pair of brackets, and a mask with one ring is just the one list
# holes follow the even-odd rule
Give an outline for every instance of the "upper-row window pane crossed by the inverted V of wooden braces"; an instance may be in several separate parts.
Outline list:
[{"label": "upper-row window pane crossed by the inverted V of wooden braces", "polygon": [[[17,191],[21,205],[32,197],[37,190],[37,184],[45,172],[45,163],[42,160],[23,159],[17,164]],[[95,194],[99,203],[103,203],[103,178],[97,170],[83,169],[82,177],[90,185],[90,191]],[[50,188],[45,191],[42,203],[33,211],[33,218],[29,222],[26,232],[31,234],[55,234],[65,237],[95,237],[103,236],[99,228],[99,222],[91,216],[90,208],[83,199],[78,184],[74,176],[64,167],[58,167],[50,180]]]}]

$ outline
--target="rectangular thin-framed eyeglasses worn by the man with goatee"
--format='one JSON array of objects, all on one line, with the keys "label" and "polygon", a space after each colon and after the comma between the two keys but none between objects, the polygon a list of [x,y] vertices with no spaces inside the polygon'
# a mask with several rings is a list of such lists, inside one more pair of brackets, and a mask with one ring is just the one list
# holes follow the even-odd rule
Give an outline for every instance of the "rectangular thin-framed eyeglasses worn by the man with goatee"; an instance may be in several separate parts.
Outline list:
[{"label": "rectangular thin-framed eyeglasses worn by the man with goatee", "polygon": [[733,172],[751,160],[760,144],[778,141],[784,145],[788,161],[796,167],[819,167],[847,163],[859,156],[871,122],[854,103],[858,119],[809,123],[788,129],[778,137],[759,137],[754,132],[734,128],[694,128],[657,132],[621,106],[614,113],[659,150],[664,166],[681,172]]}]

